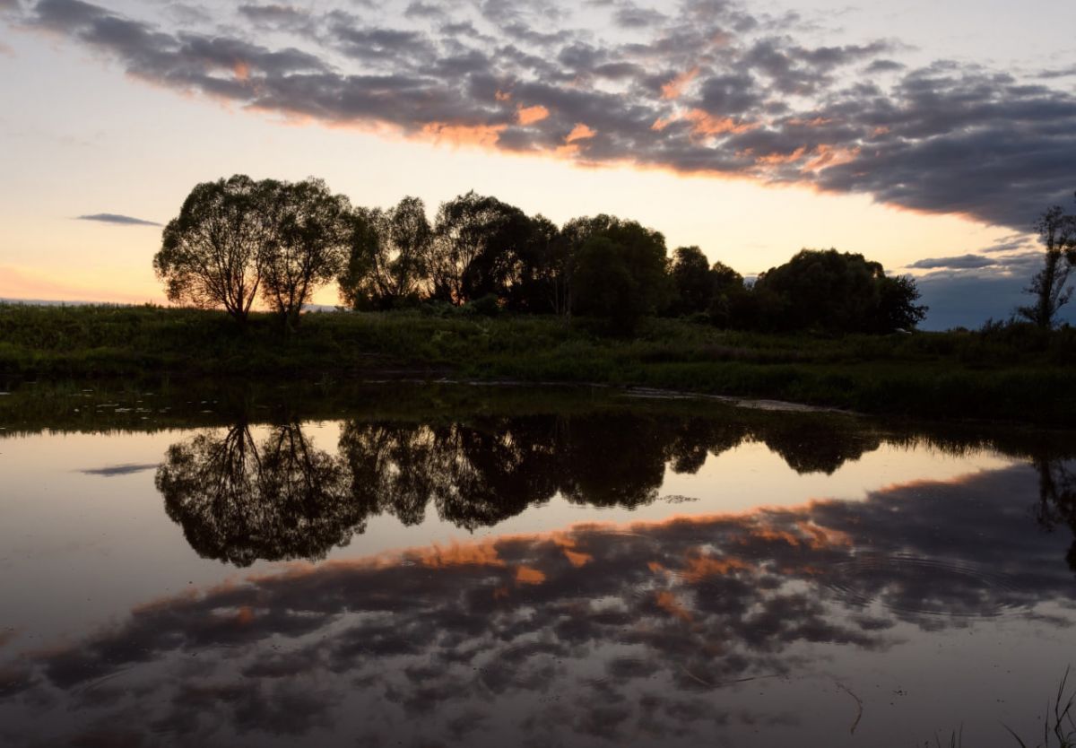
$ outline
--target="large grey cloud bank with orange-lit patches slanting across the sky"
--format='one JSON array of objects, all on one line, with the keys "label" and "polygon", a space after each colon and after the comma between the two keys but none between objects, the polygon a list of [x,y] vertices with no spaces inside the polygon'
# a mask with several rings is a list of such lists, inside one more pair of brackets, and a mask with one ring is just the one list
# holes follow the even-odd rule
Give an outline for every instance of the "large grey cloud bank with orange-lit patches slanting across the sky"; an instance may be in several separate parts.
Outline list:
[{"label": "large grey cloud bank with orange-lit patches slanting across the sky", "polygon": [[[732,0],[587,13],[420,0],[391,20],[342,0],[222,6],[210,20],[140,12],[39,0],[23,23],[259,112],[435,140],[480,132],[468,140],[483,147],[865,194],[1020,230],[1071,198],[1076,172],[1076,95],[1049,85],[1067,71],[909,68],[898,41],[817,45],[795,14]],[[516,105],[548,115],[522,122]],[[577,125],[596,135],[563,147]]]}]

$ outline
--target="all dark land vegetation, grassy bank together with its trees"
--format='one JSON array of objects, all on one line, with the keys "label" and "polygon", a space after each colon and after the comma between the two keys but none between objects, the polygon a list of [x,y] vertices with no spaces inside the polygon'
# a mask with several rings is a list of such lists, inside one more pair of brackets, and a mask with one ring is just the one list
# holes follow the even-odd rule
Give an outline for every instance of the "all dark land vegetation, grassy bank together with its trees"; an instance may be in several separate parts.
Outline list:
[{"label": "all dark land vegetation, grassy bank together with its trees", "polygon": [[[1054,322],[1076,216],[1051,208],[1038,228],[1028,322],[912,335],[914,281],[858,254],[804,250],[747,283],[634,221],[557,228],[468,193],[430,224],[417,198],[353,208],[318,180],[236,175],[192,190],[154,258],[169,298],[204,309],[0,306],[0,384],[450,376],[1071,423],[1076,330]],[[334,280],[352,311],[300,314]]]}]

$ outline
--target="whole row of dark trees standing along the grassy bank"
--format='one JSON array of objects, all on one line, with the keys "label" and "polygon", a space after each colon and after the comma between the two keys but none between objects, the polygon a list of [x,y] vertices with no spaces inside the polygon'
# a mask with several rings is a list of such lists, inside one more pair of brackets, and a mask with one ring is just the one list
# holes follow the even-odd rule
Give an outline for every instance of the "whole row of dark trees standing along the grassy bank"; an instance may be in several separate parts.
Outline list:
[{"label": "whole row of dark trees standing along the grassy bank", "polygon": [[746,282],[697,246],[669,256],[636,221],[578,217],[557,227],[469,192],[430,223],[416,197],[353,207],[322,180],[237,174],[197,185],[166,226],[154,269],[169,300],[245,322],[256,300],[287,328],[331,282],[353,310],[421,305],[592,317],[631,331],[650,315],[766,331],[889,333],[922,321],[909,277],[861,254],[803,250]]}]

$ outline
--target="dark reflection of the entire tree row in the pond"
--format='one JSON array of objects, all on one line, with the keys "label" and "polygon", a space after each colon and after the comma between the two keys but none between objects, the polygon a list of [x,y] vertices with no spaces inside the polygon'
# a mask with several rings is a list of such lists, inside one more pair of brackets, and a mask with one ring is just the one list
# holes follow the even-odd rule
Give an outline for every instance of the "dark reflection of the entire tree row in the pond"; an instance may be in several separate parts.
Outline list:
[{"label": "dark reflection of the entire tree row in the pond", "polygon": [[417,524],[433,506],[473,531],[561,494],[597,507],[652,503],[665,477],[760,440],[798,472],[832,474],[875,436],[791,420],[657,418],[627,412],[479,418],[463,423],[345,422],[337,455],[297,423],[260,444],[245,423],[173,444],[157,472],[168,516],[202,556],[246,566],[323,559],[371,514]]}]

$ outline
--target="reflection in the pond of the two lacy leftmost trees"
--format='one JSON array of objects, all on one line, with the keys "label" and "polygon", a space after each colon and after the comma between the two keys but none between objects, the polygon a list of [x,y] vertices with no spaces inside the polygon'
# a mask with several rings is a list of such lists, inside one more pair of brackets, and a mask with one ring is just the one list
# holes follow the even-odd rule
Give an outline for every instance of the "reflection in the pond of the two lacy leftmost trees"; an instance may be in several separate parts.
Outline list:
[{"label": "reflection in the pond of the two lacy leftmost trees", "polygon": [[324,558],[367,517],[340,463],[298,424],[271,427],[260,444],[246,424],[172,444],[156,485],[190,547],[237,566]]}]

